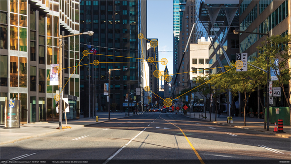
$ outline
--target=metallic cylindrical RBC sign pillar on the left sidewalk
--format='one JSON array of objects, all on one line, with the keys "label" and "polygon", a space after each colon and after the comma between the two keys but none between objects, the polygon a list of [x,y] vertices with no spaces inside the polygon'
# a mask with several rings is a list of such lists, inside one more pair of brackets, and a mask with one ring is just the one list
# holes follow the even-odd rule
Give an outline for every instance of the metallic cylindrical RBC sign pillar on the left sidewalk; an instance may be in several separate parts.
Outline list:
[{"label": "metallic cylindrical RBC sign pillar on the left sidewalk", "polygon": [[20,100],[5,100],[4,128],[20,128]]}]

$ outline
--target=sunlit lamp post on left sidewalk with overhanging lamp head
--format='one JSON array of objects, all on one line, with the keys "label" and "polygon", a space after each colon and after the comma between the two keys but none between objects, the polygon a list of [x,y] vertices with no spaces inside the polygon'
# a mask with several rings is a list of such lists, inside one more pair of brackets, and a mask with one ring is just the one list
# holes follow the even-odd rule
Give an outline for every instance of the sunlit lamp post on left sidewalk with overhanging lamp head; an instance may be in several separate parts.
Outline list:
[{"label": "sunlit lamp post on left sidewalk with overhanging lamp head", "polygon": [[63,36],[65,33],[62,32],[62,35],[59,36],[59,96],[60,96],[60,100],[59,100],[59,129],[62,129],[62,102],[63,102],[63,96],[61,94],[62,91],[62,87],[63,87],[63,74],[62,74],[62,69],[63,69],[63,38],[68,38],[68,37],[73,37],[73,36],[77,36],[77,35],[89,35],[92,36],[94,34],[93,31],[88,31],[88,32],[84,32],[84,33],[80,33],[80,34],[72,34],[72,35],[67,35],[67,36]]}]

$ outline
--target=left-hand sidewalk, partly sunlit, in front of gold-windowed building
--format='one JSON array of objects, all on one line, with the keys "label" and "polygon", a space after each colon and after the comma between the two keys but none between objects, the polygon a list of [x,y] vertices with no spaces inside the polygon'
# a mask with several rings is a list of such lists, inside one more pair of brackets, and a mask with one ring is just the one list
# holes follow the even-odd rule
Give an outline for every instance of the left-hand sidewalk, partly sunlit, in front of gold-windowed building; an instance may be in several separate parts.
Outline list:
[{"label": "left-hand sidewalk, partly sunlit, in front of gold-windowed building", "polygon": [[[134,116],[130,113],[110,113],[110,120],[116,120],[126,117]],[[141,112],[138,114],[142,114]],[[108,113],[97,113],[99,117],[98,123],[108,122]],[[81,128],[84,126],[96,124],[96,118],[80,118],[79,120],[67,121],[68,126],[72,129]],[[63,126],[66,126],[66,122],[63,121]],[[45,136],[53,133],[62,132],[70,129],[57,129],[59,127],[59,122],[37,122],[37,123],[27,123],[20,125],[20,128],[4,128],[4,125],[0,126],[0,145],[13,143],[16,141],[21,141],[29,138],[34,138],[38,136]]]}]

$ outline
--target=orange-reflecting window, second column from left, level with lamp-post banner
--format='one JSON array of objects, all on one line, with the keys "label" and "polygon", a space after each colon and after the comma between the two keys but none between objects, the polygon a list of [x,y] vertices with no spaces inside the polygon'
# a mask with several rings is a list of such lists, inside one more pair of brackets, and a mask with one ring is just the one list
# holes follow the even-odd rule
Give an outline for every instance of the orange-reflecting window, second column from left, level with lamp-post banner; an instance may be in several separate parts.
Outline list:
[{"label": "orange-reflecting window, second column from left, level with lamp-post banner", "polygon": [[18,57],[10,56],[10,86],[18,86]]}]

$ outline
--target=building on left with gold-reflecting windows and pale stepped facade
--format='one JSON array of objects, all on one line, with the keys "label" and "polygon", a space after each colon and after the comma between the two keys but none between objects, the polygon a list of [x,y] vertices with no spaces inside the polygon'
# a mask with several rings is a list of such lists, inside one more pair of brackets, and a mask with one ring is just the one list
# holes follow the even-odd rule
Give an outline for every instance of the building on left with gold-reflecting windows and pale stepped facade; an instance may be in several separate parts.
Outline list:
[{"label": "building on left with gold-reflecting windows and pale stepped facade", "polygon": [[[62,34],[62,32],[64,32]],[[51,64],[59,64],[59,36],[79,34],[79,0],[0,0],[0,104],[21,100],[21,123],[58,121],[50,85]],[[63,97],[69,99],[67,119],[79,118],[79,37],[63,46]]]}]

